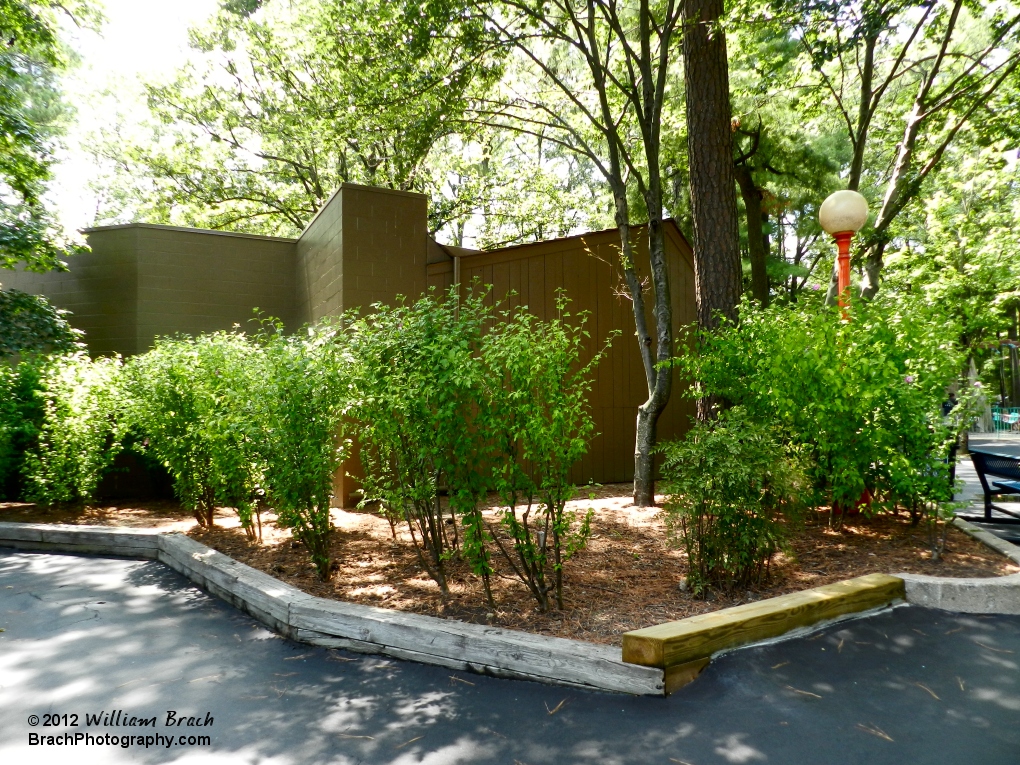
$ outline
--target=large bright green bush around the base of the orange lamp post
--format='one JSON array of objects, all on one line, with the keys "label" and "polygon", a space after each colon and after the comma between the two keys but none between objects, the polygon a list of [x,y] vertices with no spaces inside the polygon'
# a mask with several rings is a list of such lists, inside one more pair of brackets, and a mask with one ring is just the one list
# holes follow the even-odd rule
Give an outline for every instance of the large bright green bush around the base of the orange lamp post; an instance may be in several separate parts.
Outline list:
[{"label": "large bright green bush around the base of the orange lamp post", "polygon": [[948,499],[940,459],[956,434],[939,407],[963,370],[959,325],[917,295],[859,301],[849,317],[745,303],[738,325],[701,335],[678,363],[693,395],[719,396],[804,446],[817,502]]}]

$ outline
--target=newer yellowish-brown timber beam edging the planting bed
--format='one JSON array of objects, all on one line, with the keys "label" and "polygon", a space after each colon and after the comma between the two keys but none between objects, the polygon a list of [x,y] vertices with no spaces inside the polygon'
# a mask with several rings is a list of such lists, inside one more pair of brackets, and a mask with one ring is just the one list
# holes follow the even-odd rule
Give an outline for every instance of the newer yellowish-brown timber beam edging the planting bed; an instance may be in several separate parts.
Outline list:
[{"label": "newer yellowish-brown timber beam edging the planting bed", "polygon": [[662,669],[670,694],[697,677],[714,654],[905,599],[898,576],[858,576],[625,632],[623,661]]}]

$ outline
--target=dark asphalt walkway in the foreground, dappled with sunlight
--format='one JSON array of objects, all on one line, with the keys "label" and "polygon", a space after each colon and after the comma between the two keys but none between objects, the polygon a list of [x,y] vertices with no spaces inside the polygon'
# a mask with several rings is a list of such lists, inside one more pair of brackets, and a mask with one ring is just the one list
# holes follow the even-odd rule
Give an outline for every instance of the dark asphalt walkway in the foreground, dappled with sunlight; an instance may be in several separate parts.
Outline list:
[{"label": "dark asphalt walkway in the foreground, dappled with sunlight", "polygon": [[[1020,761],[1020,617],[898,608],[729,654],[666,700],[294,644],[152,562],[0,551],[0,763]],[[156,727],[85,724],[111,710]],[[30,726],[48,713],[79,726]],[[211,746],[28,746],[65,730]]]}]

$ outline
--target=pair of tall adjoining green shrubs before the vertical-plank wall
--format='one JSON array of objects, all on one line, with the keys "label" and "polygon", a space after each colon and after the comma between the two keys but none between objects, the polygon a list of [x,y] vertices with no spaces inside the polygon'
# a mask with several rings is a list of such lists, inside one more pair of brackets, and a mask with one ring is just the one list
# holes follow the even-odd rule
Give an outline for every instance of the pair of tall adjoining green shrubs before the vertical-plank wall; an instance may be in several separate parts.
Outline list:
[{"label": "pair of tall adjoining green shrubs before the vertical-plank wall", "polygon": [[[554,591],[562,608],[563,565],[590,533],[591,514],[566,505],[570,467],[594,435],[586,395],[601,354],[580,363],[588,336],[563,300],[542,321],[524,309],[496,316],[483,297],[431,294],[359,322],[363,504],[378,501],[391,522],[407,523],[444,594],[447,561],[460,555],[492,605],[495,545],[543,610]],[[482,515],[490,490],[510,549]]]}]

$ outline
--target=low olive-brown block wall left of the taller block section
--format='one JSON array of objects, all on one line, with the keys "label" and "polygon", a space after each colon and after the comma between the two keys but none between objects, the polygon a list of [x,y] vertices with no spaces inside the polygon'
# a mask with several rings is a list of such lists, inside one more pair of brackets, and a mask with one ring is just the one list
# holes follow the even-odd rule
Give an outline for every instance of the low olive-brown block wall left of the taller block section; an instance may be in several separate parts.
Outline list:
[{"label": "low olive-brown block wall left of the taller block section", "polygon": [[4,287],[73,313],[94,356],[141,353],[161,335],[242,326],[259,308],[295,325],[295,240],[130,223],[86,232],[65,272],[3,272]]}]

